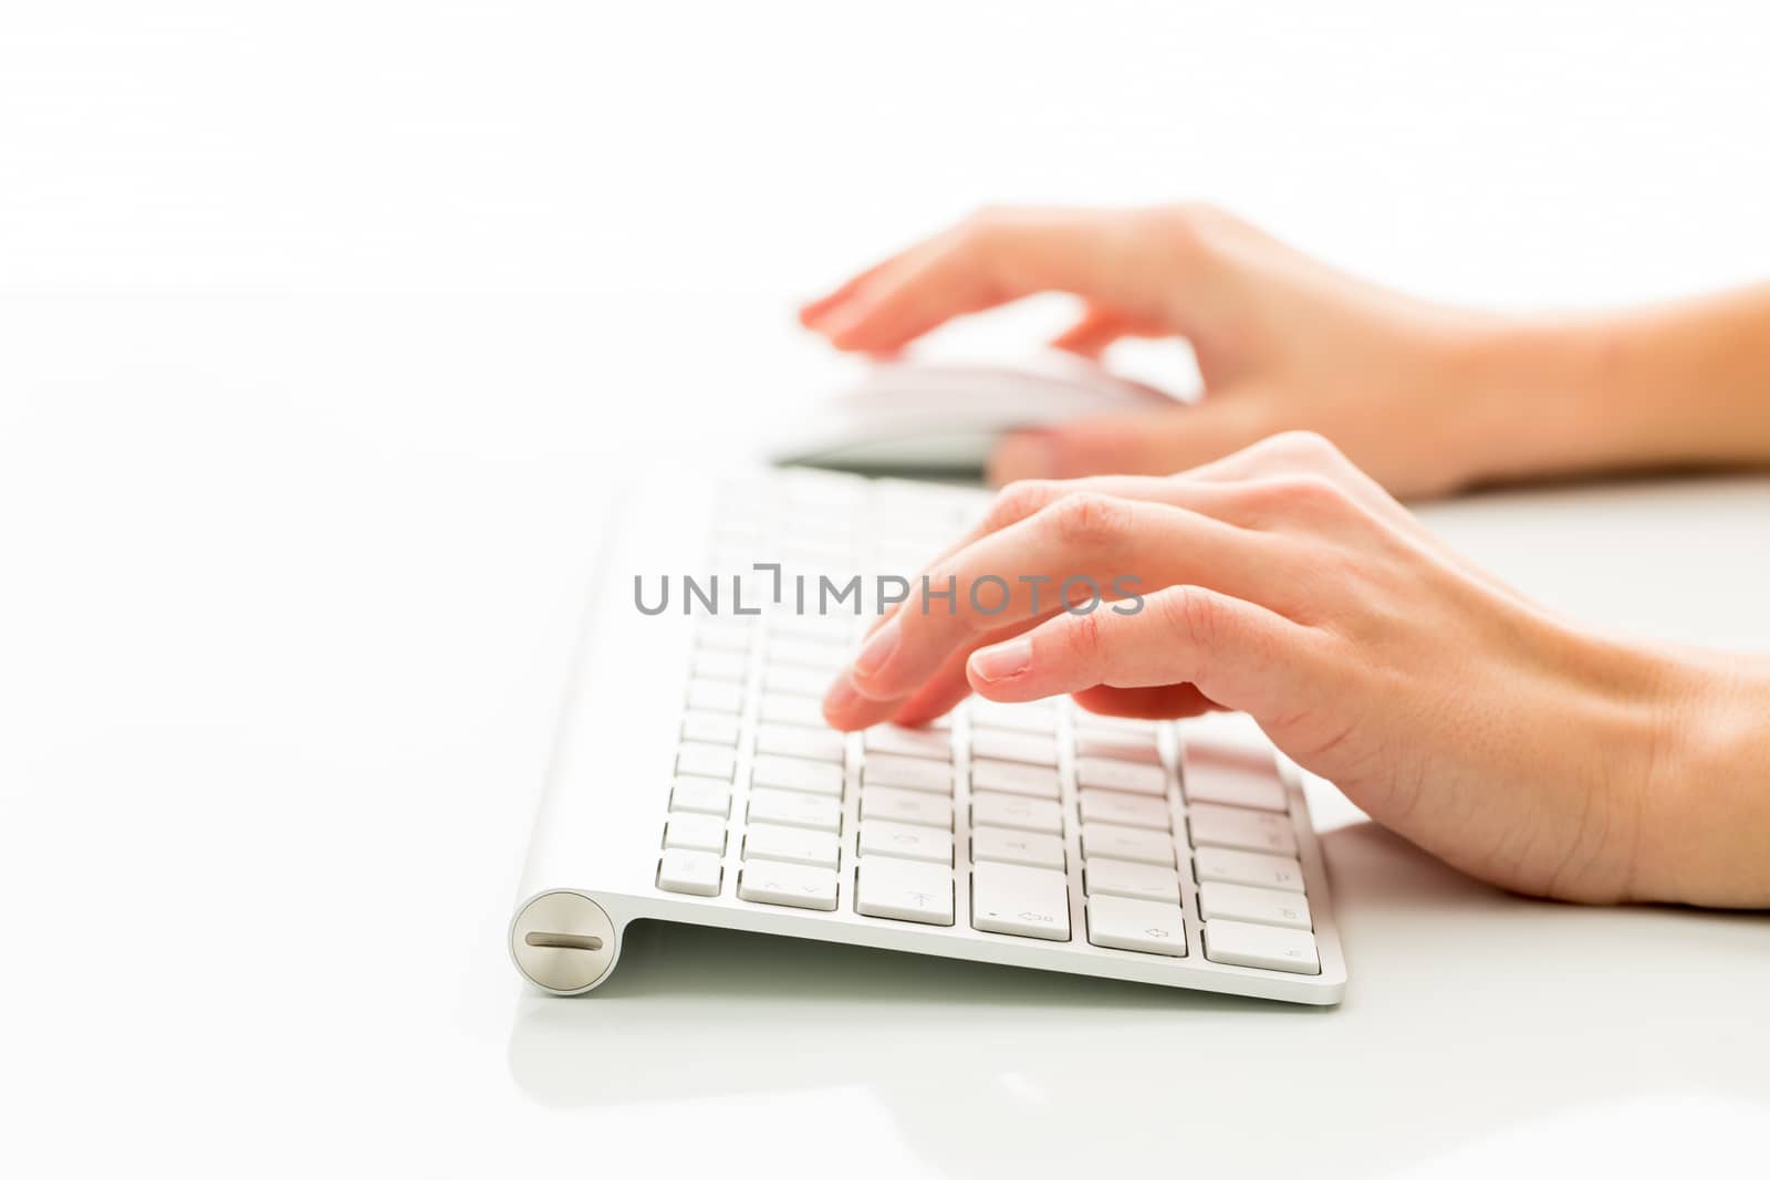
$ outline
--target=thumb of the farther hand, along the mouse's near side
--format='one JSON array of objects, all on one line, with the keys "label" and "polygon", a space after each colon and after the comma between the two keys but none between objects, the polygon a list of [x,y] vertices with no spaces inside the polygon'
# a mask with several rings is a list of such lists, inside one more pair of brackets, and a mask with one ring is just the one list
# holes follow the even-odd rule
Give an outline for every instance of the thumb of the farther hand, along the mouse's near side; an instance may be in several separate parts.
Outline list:
[{"label": "thumb of the farther hand, along the mouse's near side", "polygon": [[1223,458],[1269,433],[1271,414],[1255,395],[1103,414],[1011,433],[989,456],[989,481],[1168,476]]}]

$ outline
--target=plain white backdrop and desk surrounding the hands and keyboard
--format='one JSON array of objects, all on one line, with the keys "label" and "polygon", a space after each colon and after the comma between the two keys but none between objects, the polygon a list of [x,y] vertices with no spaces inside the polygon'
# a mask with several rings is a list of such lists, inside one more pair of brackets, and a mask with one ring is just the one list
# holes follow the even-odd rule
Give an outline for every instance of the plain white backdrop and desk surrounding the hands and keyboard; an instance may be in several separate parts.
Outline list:
[{"label": "plain white backdrop and desk surrounding the hands and keyboard", "polygon": [[[1331,1015],[689,934],[561,1008],[503,925],[596,492],[828,382],[793,299],[984,202],[1175,196],[1489,306],[1763,278],[1766,34],[1759,4],[0,7],[5,1169],[1743,1152],[1761,922],[1529,906],[1359,828]],[[1770,644],[1673,584],[1508,573]]]}]

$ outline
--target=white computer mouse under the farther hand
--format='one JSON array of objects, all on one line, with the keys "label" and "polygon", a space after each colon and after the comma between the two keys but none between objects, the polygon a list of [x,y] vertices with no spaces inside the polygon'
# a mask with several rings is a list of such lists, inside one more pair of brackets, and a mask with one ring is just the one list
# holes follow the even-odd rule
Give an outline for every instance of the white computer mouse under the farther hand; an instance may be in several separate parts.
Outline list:
[{"label": "white computer mouse under the farther hand", "polygon": [[1014,366],[890,361],[816,403],[770,458],[860,474],[977,478],[1012,430],[1174,403],[1069,352]]}]

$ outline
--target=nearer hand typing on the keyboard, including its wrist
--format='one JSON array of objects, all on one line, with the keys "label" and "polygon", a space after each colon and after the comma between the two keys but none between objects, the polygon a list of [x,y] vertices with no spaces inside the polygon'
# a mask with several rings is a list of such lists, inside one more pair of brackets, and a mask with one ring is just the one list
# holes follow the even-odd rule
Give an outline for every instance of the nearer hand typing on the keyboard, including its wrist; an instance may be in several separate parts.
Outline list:
[{"label": "nearer hand typing on the keyboard, including its wrist", "polygon": [[[1064,591],[1081,575],[1104,601],[1064,610],[1090,598]],[[1112,596],[1127,575],[1135,612]],[[1506,888],[1770,904],[1765,665],[1572,628],[1317,435],[1172,478],[1016,483],[927,577],[954,593],[915,580],[830,688],[832,725],[917,724],[970,692],[1244,709],[1375,821]]]}]

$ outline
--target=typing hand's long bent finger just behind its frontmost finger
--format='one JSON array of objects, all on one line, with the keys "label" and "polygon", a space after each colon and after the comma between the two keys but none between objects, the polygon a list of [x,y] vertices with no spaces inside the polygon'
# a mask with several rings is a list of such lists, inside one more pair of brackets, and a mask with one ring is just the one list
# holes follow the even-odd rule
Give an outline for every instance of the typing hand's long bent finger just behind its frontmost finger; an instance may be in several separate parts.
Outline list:
[{"label": "typing hand's long bent finger just behind its frontmost finger", "polygon": [[848,669],[850,683],[864,697],[904,697],[1005,619],[1037,619],[1089,598],[1127,600],[1177,582],[1283,609],[1303,579],[1290,550],[1271,541],[1168,504],[1064,497],[924,573],[904,609],[866,640]]}]

